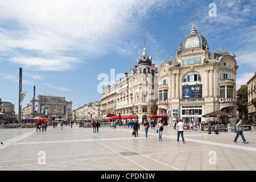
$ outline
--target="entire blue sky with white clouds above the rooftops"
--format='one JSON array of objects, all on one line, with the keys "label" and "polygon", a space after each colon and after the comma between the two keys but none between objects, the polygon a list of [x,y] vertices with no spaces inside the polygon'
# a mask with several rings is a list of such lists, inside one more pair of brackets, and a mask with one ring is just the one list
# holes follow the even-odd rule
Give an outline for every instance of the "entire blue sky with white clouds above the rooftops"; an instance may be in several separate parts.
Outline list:
[{"label": "entire blue sky with white clouds above the rooftops", "polygon": [[[216,5],[216,16],[210,3]],[[209,51],[235,53],[237,89],[256,72],[256,15],[251,1],[0,1],[0,98],[18,113],[19,68],[23,107],[43,93],[60,94],[72,109],[101,100],[98,75],[129,72],[138,65],[144,37],[156,67],[176,55],[195,27]]]}]

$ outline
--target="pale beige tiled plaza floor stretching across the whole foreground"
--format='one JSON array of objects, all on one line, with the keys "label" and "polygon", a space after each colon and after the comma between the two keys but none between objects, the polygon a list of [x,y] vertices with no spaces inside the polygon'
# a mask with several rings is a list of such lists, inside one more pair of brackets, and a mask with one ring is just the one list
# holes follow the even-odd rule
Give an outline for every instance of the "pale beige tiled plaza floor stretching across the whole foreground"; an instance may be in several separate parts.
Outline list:
[{"label": "pale beige tiled plaza floor stretching across the whole foreground", "polygon": [[256,170],[256,130],[244,132],[233,143],[234,133],[184,131],[185,143],[176,143],[176,130],[164,127],[163,140],[156,129],[142,127],[139,137],[132,130],[74,125],[47,132],[35,129],[0,129],[0,170],[88,170],[88,171],[234,171]]}]

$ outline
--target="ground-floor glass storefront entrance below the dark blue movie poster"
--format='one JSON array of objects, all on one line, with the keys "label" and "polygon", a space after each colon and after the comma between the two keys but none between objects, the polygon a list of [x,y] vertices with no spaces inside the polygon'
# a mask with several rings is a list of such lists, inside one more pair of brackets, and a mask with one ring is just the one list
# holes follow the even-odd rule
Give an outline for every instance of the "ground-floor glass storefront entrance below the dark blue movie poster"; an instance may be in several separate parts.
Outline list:
[{"label": "ground-floor glass storefront entrance below the dark blue movie poster", "polygon": [[201,122],[202,113],[202,106],[181,106],[181,119],[185,125],[189,125],[190,122],[197,125],[198,122]]}]

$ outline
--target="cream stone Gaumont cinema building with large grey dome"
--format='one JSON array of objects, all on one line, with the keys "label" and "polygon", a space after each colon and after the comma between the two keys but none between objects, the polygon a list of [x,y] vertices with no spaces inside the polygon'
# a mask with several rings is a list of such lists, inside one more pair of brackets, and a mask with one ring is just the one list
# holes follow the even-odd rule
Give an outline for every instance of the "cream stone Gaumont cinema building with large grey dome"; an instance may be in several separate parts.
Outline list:
[{"label": "cream stone Gaumont cinema building with large grey dome", "polygon": [[[169,125],[177,118],[203,123],[208,118],[202,115],[216,110],[236,115],[237,69],[236,55],[221,48],[210,52],[207,39],[193,26],[176,57],[165,59],[159,67],[157,114],[168,115]],[[223,120],[236,123],[236,118]]]}]

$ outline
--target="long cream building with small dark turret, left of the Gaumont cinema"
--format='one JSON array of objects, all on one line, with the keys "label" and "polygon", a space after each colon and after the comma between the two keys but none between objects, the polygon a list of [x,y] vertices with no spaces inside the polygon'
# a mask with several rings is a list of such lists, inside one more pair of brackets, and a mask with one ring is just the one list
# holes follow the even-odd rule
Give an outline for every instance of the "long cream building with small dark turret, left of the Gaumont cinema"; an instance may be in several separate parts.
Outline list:
[{"label": "long cream building with small dark turret, left of the Gaumont cinema", "polygon": [[156,114],[158,69],[152,64],[152,57],[147,55],[145,45],[138,64],[117,83],[104,87],[101,99],[103,118],[110,113],[135,115],[140,119]]}]

